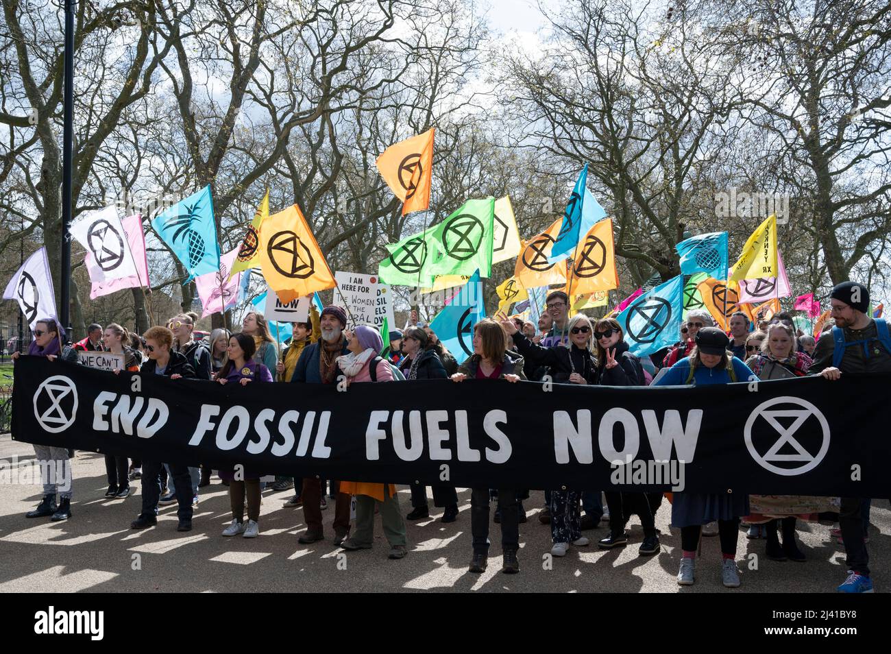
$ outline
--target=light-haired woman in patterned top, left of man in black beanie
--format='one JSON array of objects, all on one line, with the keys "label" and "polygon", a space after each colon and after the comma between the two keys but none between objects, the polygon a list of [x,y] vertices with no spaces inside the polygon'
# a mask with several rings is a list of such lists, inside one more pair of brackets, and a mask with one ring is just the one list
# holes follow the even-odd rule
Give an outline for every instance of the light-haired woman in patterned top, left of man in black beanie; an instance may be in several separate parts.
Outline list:
[{"label": "light-haired woman in patterned top, left of man in black beanie", "polygon": [[[797,352],[795,331],[786,323],[771,323],[766,338],[746,365],[759,380],[793,380],[804,377],[810,369],[811,357]],[[763,526],[767,539],[765,554],[770,560],[806,560],[798,549],[795,539],[796,519],[815,520],[822,511],[838,511],[829,497],[809,495],[751,495],[752,512],[745,521],[752,527]],[[778,523],[782,526],[782,545],[777,535]],[[751,530],[751,528],[750,528]]]}]

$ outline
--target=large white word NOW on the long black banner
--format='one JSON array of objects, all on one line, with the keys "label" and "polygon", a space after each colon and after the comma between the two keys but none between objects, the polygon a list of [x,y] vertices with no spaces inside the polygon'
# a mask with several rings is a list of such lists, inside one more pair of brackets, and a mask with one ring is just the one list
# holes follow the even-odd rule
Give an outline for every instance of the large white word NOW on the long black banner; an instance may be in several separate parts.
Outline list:
[{"label": "large white word NOW on the long black banner", "polygon": [[[696,444],[699,440],[699,429],[702,426],[702,409],[691,409],[687,412],[686,424],[681,420],[681,413],[668,409],[659,426],[656,412],[644,409],[641,412],[643,427],[650,442],[653,458],[657,461],[671,459],[672,446],[679,461],[691,463],[696,454]],[[617,424],[621,424],[624,430],[624,444],[621,449],[616,447],[615,431]],[[577,425],[577,427],[576,427]],[[569,451],[579,463],[591,463],[593,457],[593,440],[591,426],[591,411],[579,409],[576,411],[574,423],[566,411],[553,413],[554,426],[554,457],[558,463],[569,462]],[[614,407],[609,409],[601,417],[598,427],[597,442],[601,456],[608,462],[625,462],[634,460],[641,444],[641,429],[634,413],[627,409]]]}]

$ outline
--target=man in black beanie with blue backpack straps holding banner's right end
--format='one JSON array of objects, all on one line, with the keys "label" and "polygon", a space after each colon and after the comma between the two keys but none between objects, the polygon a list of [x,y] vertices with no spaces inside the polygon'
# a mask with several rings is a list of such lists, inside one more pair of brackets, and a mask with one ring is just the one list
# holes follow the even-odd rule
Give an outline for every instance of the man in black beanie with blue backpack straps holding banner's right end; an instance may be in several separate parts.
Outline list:
[{"label": "man in black beanie with blue backpack straps holding banner's right end", "polygon": [[[856,282],[837,284],[830,293],[835,326],[824,332],[813,349],[809,374],[837,381],[845,373],[891,372],[891,337],[887,323],[872,318],[870,291]],[[864,501],[842,497],[838,514],[842,543],[847,553],[848,576],[839,593],[872,593],[870,555],[866,550]]]}]

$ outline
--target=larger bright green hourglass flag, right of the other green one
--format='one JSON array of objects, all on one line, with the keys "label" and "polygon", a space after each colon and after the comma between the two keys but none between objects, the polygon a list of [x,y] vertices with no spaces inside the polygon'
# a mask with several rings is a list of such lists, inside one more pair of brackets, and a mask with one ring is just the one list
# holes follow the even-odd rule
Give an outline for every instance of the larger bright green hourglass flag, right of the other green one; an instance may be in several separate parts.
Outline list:
[{"label": "larger bright green hourglass flag, right of the other green one", "polygon": [[432,227],[433,274],[492,274],[495,198],[467,200],[439,225]]}]

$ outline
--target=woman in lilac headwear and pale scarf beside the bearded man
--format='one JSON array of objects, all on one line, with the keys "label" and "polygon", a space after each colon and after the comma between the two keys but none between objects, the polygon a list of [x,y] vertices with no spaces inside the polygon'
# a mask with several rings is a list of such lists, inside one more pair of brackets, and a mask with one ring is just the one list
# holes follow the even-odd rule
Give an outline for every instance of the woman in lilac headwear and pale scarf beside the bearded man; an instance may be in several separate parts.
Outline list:
[{"label": "woman in lilac headwear and pale scarf beside the bearded man", "polygon": [[[356,325],[347,331],[348,354],[338,357],[339,372],[347,378],[347,385],[393,380],[387,359],[380,358],[383,340],[371,325]],[[399,498],[394,484],[372,484],[361,481],[341,481],[340,493],[356,495],[356,529],[343,543],[345,550],[370,550],[374,542],[374,510],[380,511],[380,522],[390,545],[388,558],[404,559],[408,553],[405,520],[399,511]]]}]

